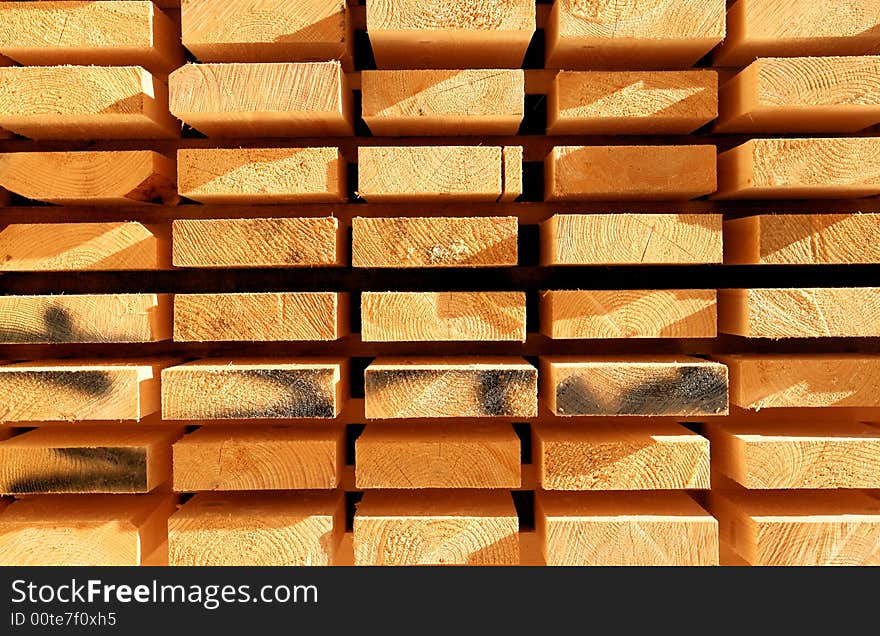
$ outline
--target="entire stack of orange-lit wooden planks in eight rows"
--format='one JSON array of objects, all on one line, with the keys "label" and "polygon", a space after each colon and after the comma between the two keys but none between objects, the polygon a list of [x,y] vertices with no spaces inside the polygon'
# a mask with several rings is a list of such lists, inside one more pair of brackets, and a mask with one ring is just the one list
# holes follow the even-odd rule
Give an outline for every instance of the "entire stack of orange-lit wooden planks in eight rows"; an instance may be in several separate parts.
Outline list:
[{"label": "entire stack of orange-lit wooden planks in eight rows", "polygon": [[0,2],[0,565],[880,564],[876,0]]}]

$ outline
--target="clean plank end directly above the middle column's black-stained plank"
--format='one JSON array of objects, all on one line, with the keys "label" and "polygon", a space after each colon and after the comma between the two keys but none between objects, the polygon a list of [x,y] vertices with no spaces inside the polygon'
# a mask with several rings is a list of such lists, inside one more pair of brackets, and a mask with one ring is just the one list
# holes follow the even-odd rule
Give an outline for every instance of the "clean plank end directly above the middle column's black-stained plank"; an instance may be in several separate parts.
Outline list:
[{"label": "clean plank end directly above the middle column's black-stained plank", "polygon": [[364,342],[526,339],[523,292],[363,292]]}]

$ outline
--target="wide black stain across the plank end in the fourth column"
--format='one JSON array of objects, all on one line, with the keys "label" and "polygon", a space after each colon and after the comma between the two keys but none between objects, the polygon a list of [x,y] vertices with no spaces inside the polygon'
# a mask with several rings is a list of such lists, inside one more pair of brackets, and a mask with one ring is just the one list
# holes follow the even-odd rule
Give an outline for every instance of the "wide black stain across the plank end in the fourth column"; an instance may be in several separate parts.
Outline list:
[{"label": "wide black stain across the plank end in the fourth column", "polygon": [[556,386],[556,411],[560,415],[714,414],[727,409],[727,396],[727,381],[716,367],[677,367],[607,399],[594,392],[588,378],[574,374]]}]

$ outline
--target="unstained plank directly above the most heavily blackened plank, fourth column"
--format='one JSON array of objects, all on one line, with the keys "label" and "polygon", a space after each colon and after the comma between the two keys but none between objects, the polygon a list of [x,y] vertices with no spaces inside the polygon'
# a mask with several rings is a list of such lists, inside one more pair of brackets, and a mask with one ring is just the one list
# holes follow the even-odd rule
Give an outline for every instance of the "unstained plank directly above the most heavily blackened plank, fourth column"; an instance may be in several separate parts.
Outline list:
[{"label": "unstained plank directly above the most heavily blackened plank, fourth column", "polygon": [[714,289],[541,292],[549,338],[714,338]]}]

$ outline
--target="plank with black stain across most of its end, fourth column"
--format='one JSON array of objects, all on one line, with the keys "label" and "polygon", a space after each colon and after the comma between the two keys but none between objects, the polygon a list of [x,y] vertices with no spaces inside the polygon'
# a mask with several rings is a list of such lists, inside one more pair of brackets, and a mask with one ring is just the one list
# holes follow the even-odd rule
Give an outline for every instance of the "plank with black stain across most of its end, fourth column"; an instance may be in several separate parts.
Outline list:
[{"label": "plank with black stain across most of its end, fourth column", "polygon": [[689,356],[541,357],[554,415],[727,415],[727,368]]}]

